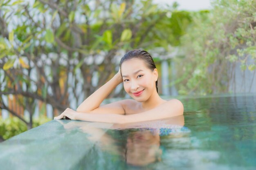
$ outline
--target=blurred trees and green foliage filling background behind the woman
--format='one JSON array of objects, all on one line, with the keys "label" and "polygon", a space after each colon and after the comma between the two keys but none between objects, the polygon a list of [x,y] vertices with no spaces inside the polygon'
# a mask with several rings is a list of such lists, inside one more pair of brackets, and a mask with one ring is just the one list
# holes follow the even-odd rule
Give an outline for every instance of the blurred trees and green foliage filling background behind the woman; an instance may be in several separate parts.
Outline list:
[{"label": "blurred trees and green foliage filling background behind the woman", "polygon": [[0,117],[0,138],[49,121],[47,106],[52,117],[78,106],[131,49],[179,49],[170,83],[179,95],[228,93],[234,64],[255,72],[255,11],[256,0],[196,12],[152,0],[0,0],[0,109],[12,115]]}]

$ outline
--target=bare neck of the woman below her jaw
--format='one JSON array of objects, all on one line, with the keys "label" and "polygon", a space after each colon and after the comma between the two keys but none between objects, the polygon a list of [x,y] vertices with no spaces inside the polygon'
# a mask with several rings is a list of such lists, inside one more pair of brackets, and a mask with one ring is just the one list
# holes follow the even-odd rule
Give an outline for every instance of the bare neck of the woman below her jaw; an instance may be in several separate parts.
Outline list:
[{"label": "bare neck of the woman below her jaw", "polygon": [[155,91],[147,101],[141,103],[141,107],[144,110],[150,110],[155,108],[156,106],[159,106],[160,104],[166,102],[166,100],[162,99],[158,93]]}]

